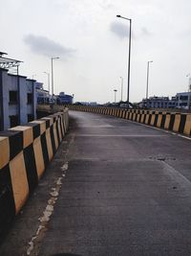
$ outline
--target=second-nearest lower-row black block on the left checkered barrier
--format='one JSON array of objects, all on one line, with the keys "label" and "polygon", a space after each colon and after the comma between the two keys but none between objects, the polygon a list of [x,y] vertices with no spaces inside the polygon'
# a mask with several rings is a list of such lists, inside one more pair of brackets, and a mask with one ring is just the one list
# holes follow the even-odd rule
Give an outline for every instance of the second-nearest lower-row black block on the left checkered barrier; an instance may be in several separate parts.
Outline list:
[{"label": "second-nearest lower-row black block on the left checkered barrier", "polygon": [[32,145],[23,150],[30,194],[38,184],[38,175],[35,164],[35,157]]}]

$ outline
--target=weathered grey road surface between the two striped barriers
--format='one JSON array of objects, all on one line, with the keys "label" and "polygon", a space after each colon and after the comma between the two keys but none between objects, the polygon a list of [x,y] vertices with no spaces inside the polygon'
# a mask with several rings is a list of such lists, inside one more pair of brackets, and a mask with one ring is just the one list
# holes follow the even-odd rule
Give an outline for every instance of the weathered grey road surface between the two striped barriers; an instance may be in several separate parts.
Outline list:
[{"label": "weathered grey road surface between the two striped barriers", "polygon": [[[191,255],[191,140],[114,117],[70,114],[69,169],[31,255]],[[63,153],[51,168],[55,173]],[[50,188],[51,178],[42,181]],[[36,193],[44,204],[47,198]],[[32,214],[35,229],[40,213]],[[15,223],[18,232],[24,232],[22,218]],[[13,250],[9,243],[11,235],[0,255],[24,255],[19,246],[26,244],[13,244]]]}]

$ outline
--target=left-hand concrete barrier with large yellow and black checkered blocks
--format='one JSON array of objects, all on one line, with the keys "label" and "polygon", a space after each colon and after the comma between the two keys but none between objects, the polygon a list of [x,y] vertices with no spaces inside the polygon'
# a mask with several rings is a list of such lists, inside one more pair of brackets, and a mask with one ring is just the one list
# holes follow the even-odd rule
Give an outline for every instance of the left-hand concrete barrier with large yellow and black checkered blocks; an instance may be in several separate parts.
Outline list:
[{"label": "left-hand concrete barrier with large yellow and black checkered blocks", "polygon": [[68,126],[65,109],[0,132],[0,236],[37,186]]}]

